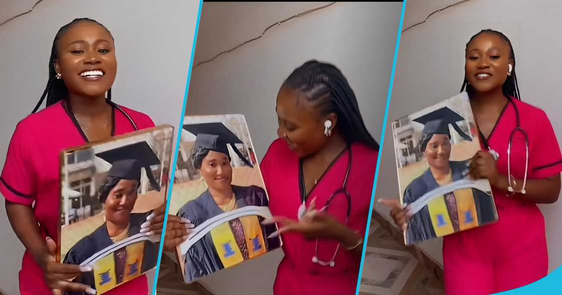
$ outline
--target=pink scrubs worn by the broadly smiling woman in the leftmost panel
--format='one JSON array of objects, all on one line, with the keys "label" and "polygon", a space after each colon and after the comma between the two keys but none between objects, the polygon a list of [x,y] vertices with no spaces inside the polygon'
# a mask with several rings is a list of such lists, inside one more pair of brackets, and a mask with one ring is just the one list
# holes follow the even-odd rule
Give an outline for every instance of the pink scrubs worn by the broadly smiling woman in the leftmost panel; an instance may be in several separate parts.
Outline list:
[{"label": "pink scrubs worn by the broadly smiling woman in the leftmost panel", "polygon": [[[121,107],[138,129],[155,126],[150,117]],[[129,119],[113,108],[112,135],[135,131]],[[58,240],[60,219],[60,153],[88,142],[66,102],[61,101],[21,120],[10,140],[0,176],[0,193],[7,201],[33,207],[43,238]],[[21,294],[52,294],[42,269],[25,251],[20,278]],[[112,289],[106,294],[147,294],[146,276]]]}]

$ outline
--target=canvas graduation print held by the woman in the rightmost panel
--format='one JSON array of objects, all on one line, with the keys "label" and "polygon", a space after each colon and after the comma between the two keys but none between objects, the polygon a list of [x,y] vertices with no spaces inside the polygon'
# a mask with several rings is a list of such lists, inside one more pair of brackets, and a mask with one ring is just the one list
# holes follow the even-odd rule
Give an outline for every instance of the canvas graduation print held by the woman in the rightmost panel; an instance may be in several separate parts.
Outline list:
[{"label": "canvas graduation print held by the woman in the rightmost panel", "polygon": [[406,244],[497,221],[490,183],[468,176],[481,147],[466,93],[393,121],[392,134],[401,203],[414,213]]}]

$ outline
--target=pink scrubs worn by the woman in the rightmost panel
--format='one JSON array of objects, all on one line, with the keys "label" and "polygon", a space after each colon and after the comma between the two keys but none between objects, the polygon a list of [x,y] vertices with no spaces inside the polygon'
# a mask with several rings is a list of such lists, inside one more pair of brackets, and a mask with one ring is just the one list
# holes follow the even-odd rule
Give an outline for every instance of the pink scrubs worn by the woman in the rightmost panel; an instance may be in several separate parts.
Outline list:
[{"label": "pink scrubs worn by the woman in the rightmost panel", "polygon": [[[499,153],[498,173],[507,175],[507,146],[518,120],[528,135],[528,179],[560,175],[560,145],[549,118],[540,108],[515,98],[507,103],[488,138],[481,140],[482,149],[489,146]],[[511,174],[523,179],[525,140],[520,131],[513,136],[510,157]],[[507,197],[507,188],[492,188],[492,193],[497,223],[443,239],[447,294],[503,292],[533,283],[548,273],[545,219],[540,209],[535,203]],[[466,288],[466,278],[479,284]]]}]

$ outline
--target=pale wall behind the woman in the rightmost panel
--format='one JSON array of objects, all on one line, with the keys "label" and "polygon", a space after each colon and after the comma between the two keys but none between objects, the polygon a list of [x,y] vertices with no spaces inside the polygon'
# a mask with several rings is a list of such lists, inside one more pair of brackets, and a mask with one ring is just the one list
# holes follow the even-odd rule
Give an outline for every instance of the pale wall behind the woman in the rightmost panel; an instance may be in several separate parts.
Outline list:
[{"label": "pale wall behind the woman in the rightmost panel", "polygon": [[[430,12],[456,0],[409,1],[404,28],[422,21]],[[549,115],[562,142],[562,106],[558,87],[562,66],[562,3],[552,1],[473,0],[433,15],[427,22],[401,36],[400,53],[388,121],[418,111],[459,92],[464,79],[464,49],[469,38],[481,29],[496,29],[510,38],[515,51],[519,89],[525,102]],[[377,198],[397,198],[395,154],[390,123],[383,147]],[[540,206],[546,219],[550,270],[562,264],[562,201]],[[389,217],[382,206],[377,211]],[[422,244],[442,261],[441,240]]]}]

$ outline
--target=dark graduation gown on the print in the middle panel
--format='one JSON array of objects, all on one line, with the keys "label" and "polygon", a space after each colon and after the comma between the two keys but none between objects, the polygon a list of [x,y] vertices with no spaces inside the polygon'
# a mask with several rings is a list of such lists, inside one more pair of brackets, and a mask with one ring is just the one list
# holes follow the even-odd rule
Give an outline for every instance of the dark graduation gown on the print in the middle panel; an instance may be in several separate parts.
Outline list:
[{"label": "dark graduation gown on the print in the middle panel", "polygon": [[[232,185],[232,189],[238,208],[245,206],[269,206],[265,190],[260,187],[256,187],[255,185],[251,185],[250,187]],[[215,200],[207,189],[196,199],[185,203],[176,215],[189,219],[191,223],[197,227],[207,219],[223,213],[224,211],[216,205]],[[258,220],[261,223],[263,218],[258,217]],[[277,228],[275,228],[275,225],[261,225],[261,230],[264,237],[268,237],[271,233],[275,232]],[[280,246],[279,238],[265,239],[265,244],[267,251],[278,248]],[[186,282],[191,282],[202,276],[224,269],[224,265],[214,246],[211,233],[207,233],[189,248],[185,255],[184,262]]]}]

